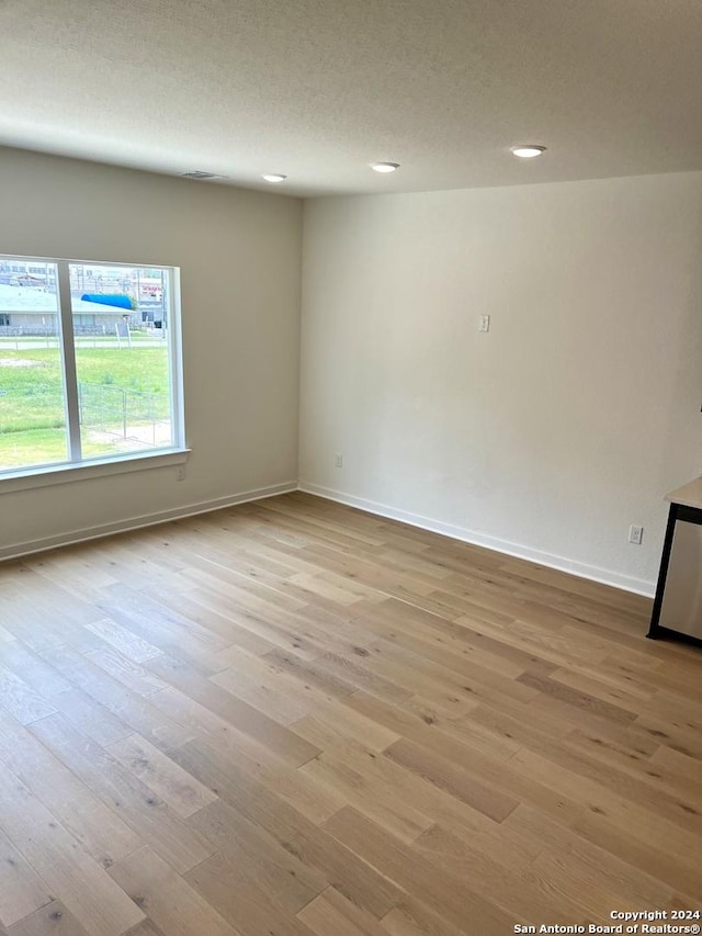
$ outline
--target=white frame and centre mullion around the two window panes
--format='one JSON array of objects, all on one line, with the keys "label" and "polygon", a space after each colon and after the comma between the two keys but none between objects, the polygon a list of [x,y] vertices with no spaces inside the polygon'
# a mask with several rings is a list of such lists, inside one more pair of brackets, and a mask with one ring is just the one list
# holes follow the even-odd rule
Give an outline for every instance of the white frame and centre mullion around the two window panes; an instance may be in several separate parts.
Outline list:
[{"label": "white frame and centre mullion around the two window panes", "polygon": [[[66,411],[66,436],[68,456],[65,461],[48,464],[26,465],[22,467],[0,469],[0,494],[23,490],[31,487],[45,487],[88,477],[122,474],[131,471],[163,467],[182,464],[190,449],[185,444],[185,421],[183,401],[183,362],[180,304],[180,269],[160,263],[144,263],[112,260],[69,260],[58,257],[23,257],[0,253],[9,263],[41,262],[54,263],[57,277],[57,316],[58,342],[64,375],[64,406]],[[168,278],[169,306],[167,309],[168,354],[170,374],[170,410],[172,444],[162,448],[149,448],[139,452],[116,453],[83,458],[80,439],[80,418],[78,406],[78,379],[76,372],[76,343],[73,334],[73,314],[70,295],[70,266],[124,267],[133,269],[156,268],[165,270]],[[11,314],[11,313],[10,313]]]}]

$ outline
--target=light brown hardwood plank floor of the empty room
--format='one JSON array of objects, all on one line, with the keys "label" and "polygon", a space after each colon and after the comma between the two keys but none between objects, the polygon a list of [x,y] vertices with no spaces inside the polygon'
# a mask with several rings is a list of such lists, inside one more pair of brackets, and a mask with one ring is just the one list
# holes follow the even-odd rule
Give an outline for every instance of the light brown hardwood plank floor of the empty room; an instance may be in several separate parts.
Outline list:
[{"label": "light brown hardwood plank floor of the empty room", "polygon": [[702,653],[304,494],[0,566],[10,936],[499,936],[702,903]]}]

